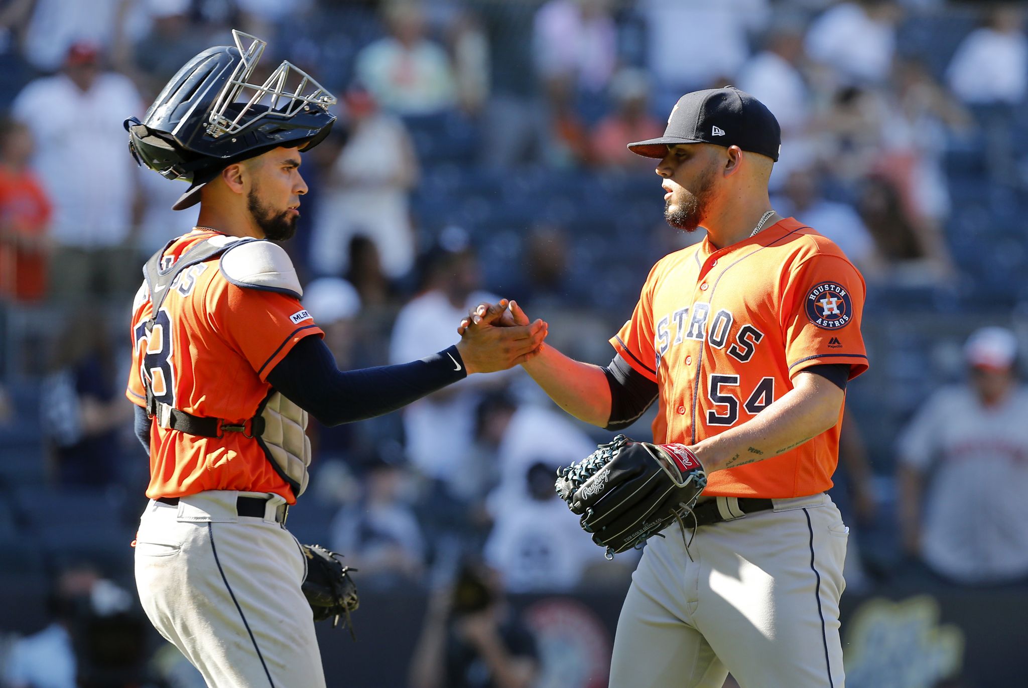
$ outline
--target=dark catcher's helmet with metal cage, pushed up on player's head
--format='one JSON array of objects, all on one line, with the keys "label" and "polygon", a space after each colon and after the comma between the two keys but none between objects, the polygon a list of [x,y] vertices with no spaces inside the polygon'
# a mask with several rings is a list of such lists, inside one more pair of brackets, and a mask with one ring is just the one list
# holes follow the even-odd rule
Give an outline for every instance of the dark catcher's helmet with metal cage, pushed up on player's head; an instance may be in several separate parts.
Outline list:
[{"label": "dark catcher's helmet with metal cage, pushed up on player's head", "polygon": [[210,47],[186,63],[143,121],[124,122],[137,162],[191,182],[175,210],[197,203],[199,188],[226,166],[279,146],[307,150],[335,121],[328,111],[335,97],[289,62],[264,83],[251,83],[267,43],[241,31],[232,31],[232,38],[234,46]]}]

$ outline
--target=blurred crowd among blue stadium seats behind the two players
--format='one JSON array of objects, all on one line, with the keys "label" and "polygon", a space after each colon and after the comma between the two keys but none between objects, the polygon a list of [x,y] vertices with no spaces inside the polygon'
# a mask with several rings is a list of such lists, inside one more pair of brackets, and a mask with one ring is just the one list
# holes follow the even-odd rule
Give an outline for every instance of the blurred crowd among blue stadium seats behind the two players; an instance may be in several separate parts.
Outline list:
[{"label": "blurred crowd among blue stadium seats behind the two players", "polygon": [[[34,520],[47,495],[117,504],[111,532],[133,530],[147,460],[122,395],[128,304],[196,209],[171,210],[184,186],[137,168],[122,121],[232,28],[268,41],[263,66],[289,60],[339,98],[304,156],[287,249],[340,368],[444,349],[469,306],[501,296],[605,363],[650,265],[697,240],[662,222],[653,166],[625,144],[660,135],[685,92],[757,96],[782,129],[773,205],[869,284],[873,371],[850,392],[834,491],[857,536],[848,583],[1028,582],[1018,2],[0,1],[0,548],[42,535],[81,549]],[[501,590],[626,584],[634,559],[604,562],[553,491],[557,466],[608,437],[517,371],[311,425],[290,528],[344,552],[365,586],[474,588],[471,603],[438,593],[429,626]],[[112,549],[75,566],[123,577],[131,555]],[[60,591],[76,571],[99,576],[44,573]],[[523,628],[475,618],[455,631],[467,647],[419,648],[418,685],[485,685],[454,677],[498,638],[524,659],[504,685],[528,685]],[[17,673],[31,652],[11,655],[11,686],[44,685]]]}]

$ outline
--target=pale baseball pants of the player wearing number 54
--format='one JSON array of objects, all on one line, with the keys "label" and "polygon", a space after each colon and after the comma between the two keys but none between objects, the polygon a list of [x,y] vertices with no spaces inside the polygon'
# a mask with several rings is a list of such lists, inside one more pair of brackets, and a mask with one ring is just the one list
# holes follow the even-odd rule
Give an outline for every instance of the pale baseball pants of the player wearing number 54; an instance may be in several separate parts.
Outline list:
[{"label": "pale baseball pants of the player wearing number 54", "polygon": [[[718,499],[723,514],[740,513]],[[843,688],[848,529],[828,495],[774,504],[697,529],[688,552],[676,523],[648,541],[610,688],[721,688],[729,672],[741,688]]]}]

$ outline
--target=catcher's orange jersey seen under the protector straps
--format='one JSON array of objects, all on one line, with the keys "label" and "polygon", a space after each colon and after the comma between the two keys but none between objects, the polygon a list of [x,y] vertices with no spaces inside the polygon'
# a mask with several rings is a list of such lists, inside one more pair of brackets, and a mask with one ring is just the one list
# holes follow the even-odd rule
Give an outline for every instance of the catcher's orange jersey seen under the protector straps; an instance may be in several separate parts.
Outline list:
[{"label": "catcher's orange jersey seen under the protector straps", "polygon": [[[194,230],[164,251],[162,267],[218,232]],[[144,283],[133,305],[133,366],[125,396],[146,406],[144,367],[158,401],[198,417],[245,423],[268,396],[268,372],[305,336],[324,335],[288,294],[238,287],[219,258],[185,268],[169,287],[153,326]],[[249,426],[248,426],[249,427]],[[247,433],[249,434],[249,432]],[[153,423],[146,496],[181,497],[207,490],[274,493],[295,502],[257,440],[242,432],[199,437]]]}]

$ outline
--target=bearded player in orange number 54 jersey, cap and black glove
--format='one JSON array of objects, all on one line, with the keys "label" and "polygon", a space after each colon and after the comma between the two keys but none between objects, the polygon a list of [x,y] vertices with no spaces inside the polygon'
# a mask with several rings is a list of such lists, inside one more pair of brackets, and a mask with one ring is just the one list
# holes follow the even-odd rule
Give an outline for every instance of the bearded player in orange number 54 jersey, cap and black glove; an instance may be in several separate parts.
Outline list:
[{"label": "bearded player in orange number 54 jersey, cap and black glove", "polygon": [[[619,436],[557,488],[599,545],[646,549],[611,688],[841,688],[848,529],[832,486],[846,384],[868,368],[865,285],[831,241],[771,208],[777,120],[733,87],[678,100],[656,158],[673,227],[605,367],[544,345],[524,368],[611,430],[658,403],[653,441]],[[482,304],[462,324],[492,318]],[[514,302],[502,322],[527,323]],[[652,537],[659,535],[661,537]]]}]

